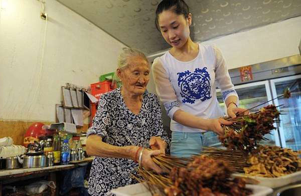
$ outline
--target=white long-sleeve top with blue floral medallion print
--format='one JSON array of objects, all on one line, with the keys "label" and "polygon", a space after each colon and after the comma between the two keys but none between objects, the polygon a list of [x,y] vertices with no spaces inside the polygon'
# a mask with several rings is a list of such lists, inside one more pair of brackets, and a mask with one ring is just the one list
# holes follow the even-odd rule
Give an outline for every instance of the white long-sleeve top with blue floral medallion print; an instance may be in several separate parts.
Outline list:
[{"label": "white long-sleeve top with blue floral medallion print", "polygon": [[171,118],[172,131],[206,131],[174,121],[174,113],[179,109],[205,119],[224,115],[216,98],[216,85],[224,100],[230,95],[237,96],[224,58],[215,46],[199,44],[198,56],[188,62],[166,52],[154,60],[152,71],[156,91]]}]

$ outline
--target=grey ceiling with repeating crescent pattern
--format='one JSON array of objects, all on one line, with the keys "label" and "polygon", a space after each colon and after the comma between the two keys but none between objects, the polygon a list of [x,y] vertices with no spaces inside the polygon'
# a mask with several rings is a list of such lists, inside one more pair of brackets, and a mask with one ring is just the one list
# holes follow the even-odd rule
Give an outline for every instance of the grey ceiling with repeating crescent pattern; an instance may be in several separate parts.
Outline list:
[{"label": "grey ceiling with repeating crescent pattern", "polygon": [[[146,54],[166,50],[155,27],[160,0],[57,0],[123,44]],[[301,0],[186,0],[196,42],[301,16]]]}]

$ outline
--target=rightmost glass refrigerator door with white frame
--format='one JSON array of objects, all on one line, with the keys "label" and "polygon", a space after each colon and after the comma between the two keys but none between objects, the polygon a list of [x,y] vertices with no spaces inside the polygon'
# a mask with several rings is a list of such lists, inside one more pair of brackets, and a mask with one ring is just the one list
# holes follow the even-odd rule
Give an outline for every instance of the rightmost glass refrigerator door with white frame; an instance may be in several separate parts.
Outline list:
[{"label": "rightmost glass refrigerator door with white frame", "polygon": [[[292,86],[293,85],[293,86]],[[279,133],[282,147],[293,150],[301,149],[301,75],[277,78],[271,80],[273,98],[283,94],[290,87],[289,99],[280,97],[274,100],[275,105],[281,105]]]}]

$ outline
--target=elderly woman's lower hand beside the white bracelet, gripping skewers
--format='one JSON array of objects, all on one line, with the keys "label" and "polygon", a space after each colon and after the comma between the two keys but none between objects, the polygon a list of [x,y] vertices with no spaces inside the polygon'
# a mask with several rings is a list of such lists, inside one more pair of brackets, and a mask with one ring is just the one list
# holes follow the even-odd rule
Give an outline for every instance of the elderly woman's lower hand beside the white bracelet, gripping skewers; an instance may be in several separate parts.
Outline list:
[{"label": "elderly woman's lower hand beside the white bracelet, gripping skewers", "polygon": [[142,153],[141,166],[145,169],[153,169],[157,173],[161,173],[162,169],[153,161],[152,156],[162,154],[161,150],[144,149]]}]

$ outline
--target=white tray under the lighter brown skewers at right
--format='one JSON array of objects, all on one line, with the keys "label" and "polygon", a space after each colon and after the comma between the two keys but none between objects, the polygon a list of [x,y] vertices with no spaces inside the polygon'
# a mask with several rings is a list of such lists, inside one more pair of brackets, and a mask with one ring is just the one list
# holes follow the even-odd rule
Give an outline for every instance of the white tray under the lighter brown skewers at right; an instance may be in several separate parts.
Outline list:
[{"label": "white tray under the lighter brown skewers at right", "polygon": [[280,186],[284,186],[290,183],[300,181],[301,171],[297,171],[281,177],[260,177],[260,176],[251,176],[251,175],[245,175],[240,173],[232,174],[232,176],[243,176],[243,177],[253,178],[259,181],[258,185],[276,188],[276,187],[280,187]]}]

